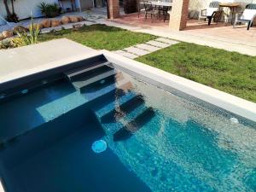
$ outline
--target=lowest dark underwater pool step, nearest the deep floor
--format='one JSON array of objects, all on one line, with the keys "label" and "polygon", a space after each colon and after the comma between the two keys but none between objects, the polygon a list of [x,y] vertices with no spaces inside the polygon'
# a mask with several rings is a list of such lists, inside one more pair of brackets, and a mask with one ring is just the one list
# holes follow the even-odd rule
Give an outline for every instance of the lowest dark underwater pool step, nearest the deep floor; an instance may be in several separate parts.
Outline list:
[{"label": "lowest dark underwater pool step, nearest the deep floor", "polygon": [[119,129],[119,131],[116,131],[113,134],[113,141],[123,141],[125,139],[128,139],[132,137],[132,135],[138,131],[140,128],[142,128],[143,125],[147,124],[148,121],[152,118],[154,118],[155,113],[153,108],[147,108],[143,111],[143,113],[140,113],[137,118],[131,120],[128,124],[126,124],[124,127]]}]

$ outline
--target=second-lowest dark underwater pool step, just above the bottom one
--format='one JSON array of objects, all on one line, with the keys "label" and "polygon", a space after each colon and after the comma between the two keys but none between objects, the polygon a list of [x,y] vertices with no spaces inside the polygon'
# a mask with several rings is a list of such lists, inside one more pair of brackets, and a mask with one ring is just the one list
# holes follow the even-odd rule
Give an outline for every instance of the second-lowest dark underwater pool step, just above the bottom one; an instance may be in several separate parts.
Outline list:
[{"label": "second-lowest dark underwater pool step, just above the bottom one", "polygon": [[113,108],[112,111],[104,114],[101,118],[102,123],[111,123],[123,118],[126,114],[131,113],[145,103],[142,95],[132,97],[127,102]]}]

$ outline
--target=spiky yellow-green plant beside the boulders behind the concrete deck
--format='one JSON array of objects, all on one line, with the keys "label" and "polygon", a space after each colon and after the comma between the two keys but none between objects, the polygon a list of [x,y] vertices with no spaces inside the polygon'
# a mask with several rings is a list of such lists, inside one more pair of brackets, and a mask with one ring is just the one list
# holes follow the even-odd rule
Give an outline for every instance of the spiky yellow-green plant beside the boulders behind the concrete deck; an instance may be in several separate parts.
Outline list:
[{"label": "spiky yellow-green plant beside the boulders behind the concrete deck", "polygon": [[20,31],[15,31],[18,36],[21,38],[23,44],[37,44],[38,43],[38,34],[40,32],[38,24],[34,24],[33,18],[31,19],[31,25],[29,26],[29,32],[26,32],[25,29],[20,29]]}]

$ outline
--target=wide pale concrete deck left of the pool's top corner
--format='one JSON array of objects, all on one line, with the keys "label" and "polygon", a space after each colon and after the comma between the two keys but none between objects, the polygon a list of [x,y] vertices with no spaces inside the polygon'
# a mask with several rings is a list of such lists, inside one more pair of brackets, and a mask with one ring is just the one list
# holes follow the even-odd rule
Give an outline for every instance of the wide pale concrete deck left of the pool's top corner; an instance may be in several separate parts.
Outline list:
[{"label": "wide pale concrete deck left of the pool's top corner", "polygon": [[3,49],[0,50],[0,84],[98,54],[95,49],[66,38],[15,49]]}]

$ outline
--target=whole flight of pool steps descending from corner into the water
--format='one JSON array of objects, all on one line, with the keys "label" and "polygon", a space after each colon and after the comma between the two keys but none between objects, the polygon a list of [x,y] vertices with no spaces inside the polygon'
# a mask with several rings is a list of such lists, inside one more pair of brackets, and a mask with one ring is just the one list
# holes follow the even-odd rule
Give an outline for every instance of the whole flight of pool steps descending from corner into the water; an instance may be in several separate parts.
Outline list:
[{"label": "whole flight of pool steps descending from corner into the water", "polygon": [[106,133],[113,141],[121,141],[131,137],[155,113],[146,106],[143,96],[133,90],[130,80],[108,64],[97,62],[69,71],[66,76],[88,100]]}]

